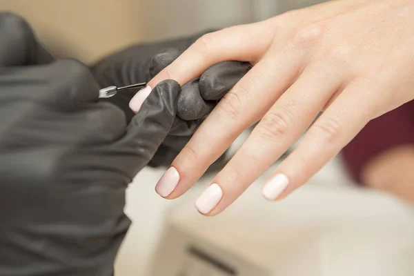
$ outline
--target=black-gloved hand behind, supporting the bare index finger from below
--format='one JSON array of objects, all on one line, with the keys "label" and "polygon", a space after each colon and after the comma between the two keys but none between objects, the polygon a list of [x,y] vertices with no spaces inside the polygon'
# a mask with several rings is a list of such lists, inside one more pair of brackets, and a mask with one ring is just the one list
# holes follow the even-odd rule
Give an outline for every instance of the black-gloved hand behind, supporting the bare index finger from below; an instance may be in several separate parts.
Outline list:
[{"label": "black-gloved hand behind, supporting the bare index finger from below", "polygon": [[[133,46],[99,61],[92,71],[101,88],[149,81],[199,37],[201,34],[175,41]],[[225,61],[211,66],[199,79],[184,84],[177,105],[179,118],[175,119],[174,126],[150,161],[150,166],[169,166],[217,101],[250,68],[247,62]],[[135,114],[128,106],[135,93],[135,90],[122,92],[106,101],[124,110],[128,121]]]}]

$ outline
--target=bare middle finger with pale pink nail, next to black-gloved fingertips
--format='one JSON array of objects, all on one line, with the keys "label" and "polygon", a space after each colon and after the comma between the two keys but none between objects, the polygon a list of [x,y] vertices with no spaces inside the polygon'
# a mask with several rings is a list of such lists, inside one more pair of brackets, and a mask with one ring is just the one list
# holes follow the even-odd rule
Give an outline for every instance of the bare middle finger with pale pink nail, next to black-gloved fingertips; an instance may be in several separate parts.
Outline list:
[{"label": "bare middle finger with pale pink nail, next to black-gloved fingertips", "polygon": [[293,83],[299,74],[302,55],[288,49],[278,54],[259,61],[221,99],[161,177],[156,187],[159,195],[172,199],[185,193],[240,133],[258,121]]}]

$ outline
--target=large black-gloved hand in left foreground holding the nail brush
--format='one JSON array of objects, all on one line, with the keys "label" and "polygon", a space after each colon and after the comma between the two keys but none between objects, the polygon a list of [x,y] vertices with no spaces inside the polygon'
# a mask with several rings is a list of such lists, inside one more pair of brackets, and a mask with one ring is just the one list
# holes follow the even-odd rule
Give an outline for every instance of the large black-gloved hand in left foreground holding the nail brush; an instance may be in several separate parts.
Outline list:
[{"label": "large black-gloved hand in left foreground holding the nail brush", "polygon": [[168,135],[180,86],[157,86],[127,126],[86,66],[34,62],[27,24],[0,22],[0,275],[113,275],[126,187]]}]

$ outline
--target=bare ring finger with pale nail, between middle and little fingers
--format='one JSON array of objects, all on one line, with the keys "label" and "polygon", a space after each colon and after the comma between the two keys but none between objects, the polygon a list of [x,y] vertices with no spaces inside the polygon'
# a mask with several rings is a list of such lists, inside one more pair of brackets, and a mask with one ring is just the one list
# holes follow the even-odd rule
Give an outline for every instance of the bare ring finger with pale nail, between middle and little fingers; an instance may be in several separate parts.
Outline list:
[{"label": "bare ring finger with pale nail, between middle and little fingers", "polygon": [[200,213],[220,213],[299,139],[342,85],[341,72],[331,67],[324,62],[309,65],[277,100],[233,159],[215,177],[209,189],[221,189],[217,193],[223,195],[219,204],[204,204],[201,195],[196,202]]}]

